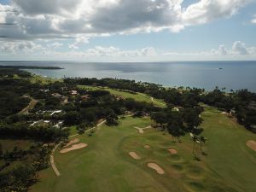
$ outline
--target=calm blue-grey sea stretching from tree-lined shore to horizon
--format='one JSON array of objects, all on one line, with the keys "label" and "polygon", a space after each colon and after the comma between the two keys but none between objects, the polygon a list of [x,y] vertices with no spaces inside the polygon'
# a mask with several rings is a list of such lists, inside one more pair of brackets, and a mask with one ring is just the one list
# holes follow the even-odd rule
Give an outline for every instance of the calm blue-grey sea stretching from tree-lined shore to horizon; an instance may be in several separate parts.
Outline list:
[{"label": "calm blue-grey sea stretching from tree-lined shore to horizon", "polygon": [[[84,63],[75,61],[15,61],[0,65],[57,66],[63,70],[28,70],[51,77],[135,79],[164,86],[256,92],[256,61],[178,61],[154,63]],[[219,68],[223,68],[220,70]]]}]

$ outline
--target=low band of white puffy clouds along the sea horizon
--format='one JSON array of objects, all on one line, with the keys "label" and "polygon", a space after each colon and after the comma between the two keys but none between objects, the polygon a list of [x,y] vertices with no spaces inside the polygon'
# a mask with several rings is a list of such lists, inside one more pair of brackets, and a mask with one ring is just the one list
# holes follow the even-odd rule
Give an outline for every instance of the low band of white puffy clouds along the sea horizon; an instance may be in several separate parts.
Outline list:
[{"label": "low band of white puffy clouds along the sea horizon", "polygon": [[[70,44],[70,50],[57,49],[61,43],[45,44],[45,41],[12,41],[0,46],[1,58],[27,59],[48,58],[52,60],[86,60],[86,61],[184,61],[184,60],[255,60],[256,47],[249,47],[236,41],[230,48],[219,45],[217,49],[197,52],[163,51],[154,47],[142,49],[119,49],[118,47],[95,46],[90,49],[79,49]],[[12,57],[13,55],[13,57]],[[41,57],[40,57],[41,56]]]}]

